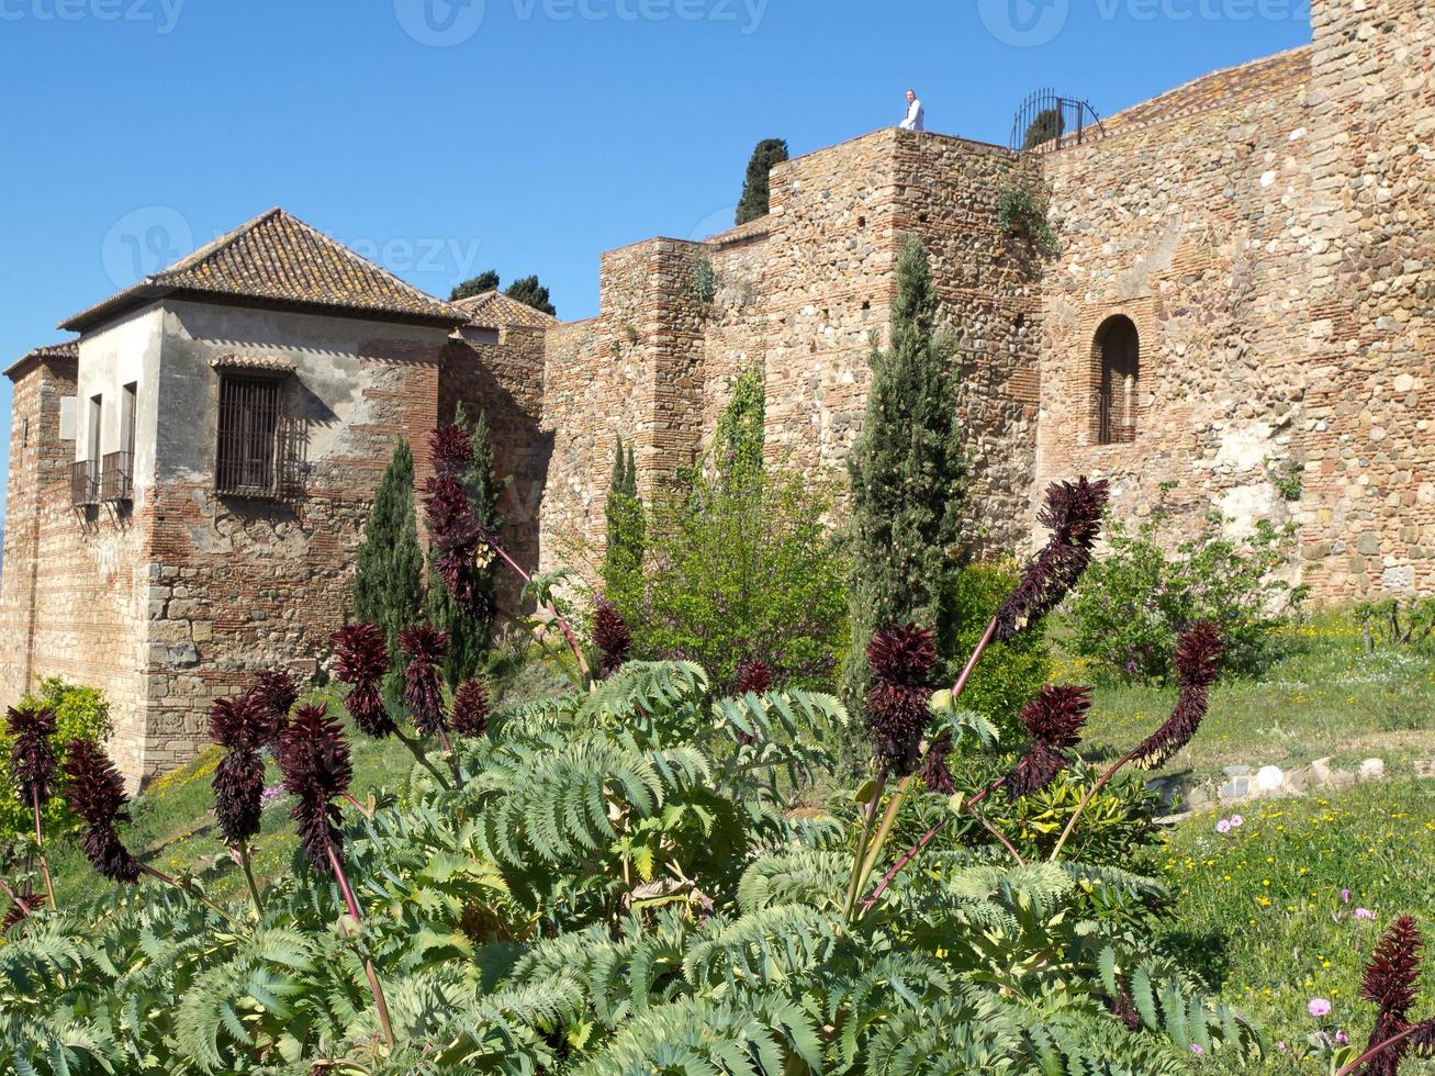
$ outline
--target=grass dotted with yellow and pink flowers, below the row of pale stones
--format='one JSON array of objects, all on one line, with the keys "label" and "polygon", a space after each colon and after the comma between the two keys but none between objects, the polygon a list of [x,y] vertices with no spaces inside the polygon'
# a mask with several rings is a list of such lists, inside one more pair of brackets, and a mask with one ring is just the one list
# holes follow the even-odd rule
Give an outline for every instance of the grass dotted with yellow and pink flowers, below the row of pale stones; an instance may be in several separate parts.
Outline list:
[{"label": "grass dotted with yellow and pink flowers, below the row of pale stones", "polygon": [[[1215,822],[1233,812],[1200,813],[1171,834],[1159,861],[1177,898],[1167,940],[1284,1043],[1290,1053],[1276,1052],[1264,1072],[1326,1072],[1303,1057],[1307,1037],[1343,1030],[1366,1042],[1372,1006],[1358,991],[1379,934],[1409,912],[1435,950],[1435,782],[1359,785],[1237,811],[1244,823],[1225,835]],[[1358,918],[1358,908],[1375,920]],[[1424,987],[1418,1016],[1435,1011],[1435,967]],[[1316,997],[1332,1006],[1322,1020],[1307,1011]],[[1435,1063],[1412,1059],[1401,1072],[1435,1073]]]}]

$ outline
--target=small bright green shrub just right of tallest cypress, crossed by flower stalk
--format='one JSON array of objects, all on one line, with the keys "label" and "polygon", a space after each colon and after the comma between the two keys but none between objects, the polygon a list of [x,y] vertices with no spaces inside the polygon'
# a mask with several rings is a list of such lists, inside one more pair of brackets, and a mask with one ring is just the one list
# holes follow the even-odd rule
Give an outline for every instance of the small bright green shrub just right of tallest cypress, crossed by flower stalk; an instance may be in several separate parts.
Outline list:
[{"label": "small bright green shrub just right of tallest cypress, crossed by flower stalk", "polygon": [[[960,667],[982,641],[992,617],[1020,581],[1012,561],[967,564],[957,575],[951,601],[957,630],[950,653],[943,657],[949,671]],[[1023,631],[1009,643],[996,643],[971,674],[961,704],[986,714],[1004,730],[1016,727],[1016,713],[1050,680],[1052,659],[1046,626]]]}]

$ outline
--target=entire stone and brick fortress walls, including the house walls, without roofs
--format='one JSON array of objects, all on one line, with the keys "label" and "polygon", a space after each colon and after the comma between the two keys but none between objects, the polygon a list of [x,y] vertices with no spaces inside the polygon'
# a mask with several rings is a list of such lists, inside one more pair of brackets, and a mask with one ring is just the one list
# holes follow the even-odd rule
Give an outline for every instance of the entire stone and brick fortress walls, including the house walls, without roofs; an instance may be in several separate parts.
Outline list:
[{"label": "entire stone and brick fortress walls, including the house walls, without roofs", "polygon": [[[960,364],[977,551],[1023,551],[1045,485],[1088,473],[1124,519],[1175,483],[1172,542],[1213,511],[1237,532],[1293,524],[1292,575],[1320,598],[1435,593],[1432,65],[1429,0],[1316,0],[1309,47],[1139,105],[1095,142],[1033,156],[888,129],[779,165],[766,218],[604,254],[585,321],[509,310],[451,334],[172,298],[42,349],[10,370],[4,702],[43,676],[95,684],[126,775],[185,762],[215,696],[319,669],[393,443],[413,443],[422,483],[428,433],[459,403],[489,415],[505,541],[530,568],[591,570],[616,440],[650,496],[753,364],[772,462],[841,478],[905,234],[930,251]],[[1017,182],[1050,195],[1055,258],[999,227]],[[1116,330],[1132,367],[1104,425]],[[290,502],[214,492],[211,367],[235,356],[293,370]],[[60,402],[96,377],[116,392],[135,376],[116,363],[156,386],[133,504],[82,515],[70,465],[93,453],[60,436]]]}]

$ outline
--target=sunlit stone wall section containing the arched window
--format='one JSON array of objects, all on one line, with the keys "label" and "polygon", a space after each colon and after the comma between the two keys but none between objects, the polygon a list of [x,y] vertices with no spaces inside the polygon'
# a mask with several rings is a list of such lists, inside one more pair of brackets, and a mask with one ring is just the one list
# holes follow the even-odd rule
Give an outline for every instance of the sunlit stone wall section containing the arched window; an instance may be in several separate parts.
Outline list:
[{"label": "sunlit stone wall section containing the arched window", "polygon": [[[1307,67],[1296,50],[1211,76],[1045,158],[1062,251],[1043,284],[1039,488],[1108,478],[1135,519],[1177,482],[1172,541],[1211,509],[1234,531],[1286,519],[1271,469],[1299,459],[1306,392]],[[1141,337],[1135,436],[1099,445],[1095,341],[1118,314]]]}]

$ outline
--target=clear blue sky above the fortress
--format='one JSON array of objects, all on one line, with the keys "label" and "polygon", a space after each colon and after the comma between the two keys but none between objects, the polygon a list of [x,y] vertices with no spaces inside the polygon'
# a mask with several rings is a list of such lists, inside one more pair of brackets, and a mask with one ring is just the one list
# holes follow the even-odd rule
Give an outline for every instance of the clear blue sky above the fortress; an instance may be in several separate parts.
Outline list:
[{"label": "clear blue sky above the fortress", "polygon": [[1309,36],[1304,0],[0,0],[0,359],[273,205],[587,317],[601,251],[730,222],[761,138],[894,123],[914,85],[1004,143],[1033,89],[1109,115]]}]

